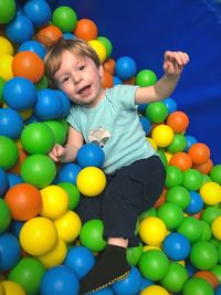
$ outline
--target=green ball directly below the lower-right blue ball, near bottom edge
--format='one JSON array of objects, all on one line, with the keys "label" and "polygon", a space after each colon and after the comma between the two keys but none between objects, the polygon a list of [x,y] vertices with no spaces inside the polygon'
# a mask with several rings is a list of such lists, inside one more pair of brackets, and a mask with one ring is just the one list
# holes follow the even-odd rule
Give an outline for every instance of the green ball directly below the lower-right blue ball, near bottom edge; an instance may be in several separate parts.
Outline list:
[{"label": "green ball directly below the lower-right blue ball, near bottom edge", "polygon": [[177,262],[171,262],[166,276],[160,281],[162,287],[172,293],[179,293],[188,280],[187,270]]}]

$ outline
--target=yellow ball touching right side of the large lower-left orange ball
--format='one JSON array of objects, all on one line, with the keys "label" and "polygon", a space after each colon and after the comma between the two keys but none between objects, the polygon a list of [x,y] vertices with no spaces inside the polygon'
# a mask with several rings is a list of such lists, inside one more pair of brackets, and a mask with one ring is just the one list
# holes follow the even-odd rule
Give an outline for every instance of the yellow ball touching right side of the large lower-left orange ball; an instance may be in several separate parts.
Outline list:
[{"label": "yellow ball touching right side of the large lower-left orange ball", "polygon": [[54,220],[67,211],[69,196],[64,189],[52,185],[43,188],[40,192],[42,197],[41,215]]}]

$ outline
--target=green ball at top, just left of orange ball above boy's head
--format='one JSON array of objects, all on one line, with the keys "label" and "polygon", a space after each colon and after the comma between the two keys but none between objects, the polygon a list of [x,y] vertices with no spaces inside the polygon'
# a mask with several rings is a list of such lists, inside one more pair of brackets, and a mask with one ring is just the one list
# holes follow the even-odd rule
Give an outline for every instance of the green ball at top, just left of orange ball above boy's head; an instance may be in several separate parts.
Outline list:
[{"label": "green ball at top, just left of orange ball above boy's head", "polygon": [[76,27],[77,15],[72,8],[62,6],[54,10],[52,23],[59,27],[63,33],[70,33],[73,32]]}]

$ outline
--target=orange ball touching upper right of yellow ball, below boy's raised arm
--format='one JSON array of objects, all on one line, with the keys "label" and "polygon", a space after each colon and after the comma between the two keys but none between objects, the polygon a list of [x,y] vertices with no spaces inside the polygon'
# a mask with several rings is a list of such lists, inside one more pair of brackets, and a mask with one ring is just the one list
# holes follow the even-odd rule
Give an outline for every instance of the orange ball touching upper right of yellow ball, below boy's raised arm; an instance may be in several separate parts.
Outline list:
[{"label": "orange ball touching upper right of yellow ball, below boy's raised arm", "polygon": [[189,118],[183,112],[176,110],[167,117],[167,125],[177,134],[183,133],[189,125]]}]

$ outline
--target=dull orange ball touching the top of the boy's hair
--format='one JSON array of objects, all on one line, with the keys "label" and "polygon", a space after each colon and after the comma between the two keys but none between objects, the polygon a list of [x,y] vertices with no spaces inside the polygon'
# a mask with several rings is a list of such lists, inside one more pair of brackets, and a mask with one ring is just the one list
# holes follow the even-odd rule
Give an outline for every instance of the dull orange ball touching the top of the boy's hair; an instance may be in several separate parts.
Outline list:
[{"label": "dull orange ball touching the top of the boy's hair", "polygon": [[62,38],[62,31],[53,24],[46,25],[39,30],[36,40],[45,46],[51,46]]}]

